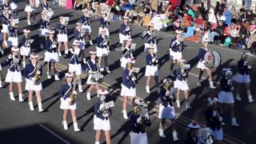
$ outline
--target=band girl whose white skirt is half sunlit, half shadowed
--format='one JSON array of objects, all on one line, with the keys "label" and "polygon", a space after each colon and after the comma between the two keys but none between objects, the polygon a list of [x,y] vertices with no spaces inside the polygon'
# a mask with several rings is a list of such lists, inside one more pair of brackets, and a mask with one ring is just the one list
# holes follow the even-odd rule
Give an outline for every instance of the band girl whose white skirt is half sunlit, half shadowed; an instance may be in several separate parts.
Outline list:
[{"label": "band girl whose white skirt is half sunlit, half shadowed", "polygon": [[174,109],[174,102],[176,101],[175,93],[177,89],[173,87],[174,82],[171,79],[166,78],[163,80],[163,82],[164,82],[164,86],[160,94],[162,103],[159,105],[159,113],[158,113],[158,118],[161,121],[159,123],[158,133],[161,138],[166,138],[166,135],[163,132],[163,127],[166,122],[166,118],[170,119],[172,128],[173,128],[174,141],[178,141],[178,133],[175,127],[176,116],[175,116],[175,109]]}]

